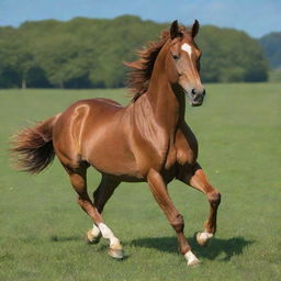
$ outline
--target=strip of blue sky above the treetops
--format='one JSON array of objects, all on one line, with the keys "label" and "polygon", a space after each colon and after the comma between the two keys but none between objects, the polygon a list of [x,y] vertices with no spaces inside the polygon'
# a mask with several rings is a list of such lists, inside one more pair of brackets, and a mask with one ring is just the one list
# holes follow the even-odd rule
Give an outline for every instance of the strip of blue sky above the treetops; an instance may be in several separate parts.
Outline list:
[{"label": "strip of blue sky above the treetops", "polygon": [[0,25],[122,14],[157,22],[178,19],[183,24],[198,19],[202,25],[235,27],[254,37],[281,31],[281,0],[0,0]]}]

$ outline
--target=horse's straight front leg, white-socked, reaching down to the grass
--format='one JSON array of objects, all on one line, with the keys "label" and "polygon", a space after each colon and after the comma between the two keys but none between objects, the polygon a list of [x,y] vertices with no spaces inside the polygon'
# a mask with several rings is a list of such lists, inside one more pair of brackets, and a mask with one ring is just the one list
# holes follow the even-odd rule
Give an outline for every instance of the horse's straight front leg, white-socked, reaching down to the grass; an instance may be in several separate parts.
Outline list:
[{"label": "horse's straight front leg, white-socked, reaching down to the grass", "polygon": [[162,177],[154,169],[150,169],[147,176],[147,181],[151,193],[154,194],[155,200],[166,214],[169,223],[175,228],[178,241],[179,241],[179,249],[180,252],[184,256],[188,261],[188,266],[195,266],[200,261],[191,251],[191,247],[187,241],[187,238],[183,234],[184,222],[183,216],[179,213],[179,211],[175,207],[168,191],[167,186],[164,182]]}]

